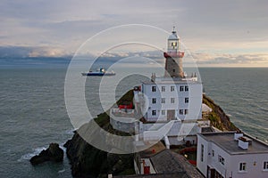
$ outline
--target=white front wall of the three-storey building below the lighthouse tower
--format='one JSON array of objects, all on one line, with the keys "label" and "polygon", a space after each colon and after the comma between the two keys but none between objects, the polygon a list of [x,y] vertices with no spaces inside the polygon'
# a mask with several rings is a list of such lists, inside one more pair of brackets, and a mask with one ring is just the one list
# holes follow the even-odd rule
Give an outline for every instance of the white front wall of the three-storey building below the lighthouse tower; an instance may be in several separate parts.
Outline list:
[{"label": "white front wall of the three-storey building below the lighthouse tower", "polygon": [[[152,92],[152,86],[156,87],[156,91]],[[158,86],[158,87],[157,87]],[[162,86],[165,86],[165,92],[162,92]],[[174,91],[171,91],[171,86],[174,86]],[[180,86],[188,86],[188,92],[180,92]],[[166,121],[167,110],[174,109],[175,117],[181,120],[201,119],[202,118],[202,84],[200,83],[181,83],[181,84],[143,84],[142,93],[147,97],[147,114],[145,117],[147,121]],[[152,99],[156,99],[156,103]],[[162,103],[162,98],[165,103]],[[175,102],[171,103],[171,98]],[[188,98],[188,103],[185,103],[185,98]],[[180,115],[180,109],[183,109],[183,114]],[[185,109],[188,109],[188,114],[185,114]],[[152,110],[156,110],[156,115],[152,115]],[[162,110],[165,114],[162,115]]]}]

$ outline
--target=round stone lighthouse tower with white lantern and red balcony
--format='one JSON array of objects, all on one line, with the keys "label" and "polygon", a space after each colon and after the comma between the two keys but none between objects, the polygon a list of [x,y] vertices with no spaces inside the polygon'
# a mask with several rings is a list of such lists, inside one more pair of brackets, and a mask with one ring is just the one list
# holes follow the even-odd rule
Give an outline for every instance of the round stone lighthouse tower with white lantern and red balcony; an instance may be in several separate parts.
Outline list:
[{"label": "round stone lighthouse tower with white lantern and red balcony", "polygon": [[182,58],[184,52],[180,52],[180,38],[177,36],[175,27],[167,40],[167,51],[163,53],[165,58],[164,77],[184,77]]}]

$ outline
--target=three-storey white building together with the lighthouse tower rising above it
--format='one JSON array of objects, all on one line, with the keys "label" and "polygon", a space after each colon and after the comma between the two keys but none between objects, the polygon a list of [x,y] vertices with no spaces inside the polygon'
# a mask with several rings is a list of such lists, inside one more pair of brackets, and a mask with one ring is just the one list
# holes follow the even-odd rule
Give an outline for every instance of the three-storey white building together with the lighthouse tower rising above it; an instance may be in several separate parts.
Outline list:
[{"label": "three-storey white building together with the lighthouse tower rising above it", "polygon": [[145,81],[141,93],[146,97],[142,113],[147,122],[170,120],[197,120],[202,118],[202,84],[197,77],[186,77],[182,68],[183,52],[176,31],[167,40],[165,73]]}]

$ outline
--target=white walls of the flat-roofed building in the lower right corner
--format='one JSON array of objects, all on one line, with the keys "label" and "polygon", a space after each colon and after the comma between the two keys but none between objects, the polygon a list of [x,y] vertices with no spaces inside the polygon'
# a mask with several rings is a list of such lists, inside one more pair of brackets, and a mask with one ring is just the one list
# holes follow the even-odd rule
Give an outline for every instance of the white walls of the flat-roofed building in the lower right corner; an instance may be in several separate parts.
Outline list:
[{"label": "white walls of the flat-roofed building in the lower right corner", "polygon": [[[264,161],[268,161],[268,154],[237,154],[230,155],[214,142],[206,142],[197,135],[197,168],[206,176],[207,166],[214,167],[223,177],[232,178],[266,178],[268,171],[264,171]],[[204,161],[201,161],[201,144],[204,145]],[[213,157],[214,150],[214,157]],[[219,155],[224,158],[224,165],[219,162]],[[247,163],[246,172],[239,171],[240,163]]]}]

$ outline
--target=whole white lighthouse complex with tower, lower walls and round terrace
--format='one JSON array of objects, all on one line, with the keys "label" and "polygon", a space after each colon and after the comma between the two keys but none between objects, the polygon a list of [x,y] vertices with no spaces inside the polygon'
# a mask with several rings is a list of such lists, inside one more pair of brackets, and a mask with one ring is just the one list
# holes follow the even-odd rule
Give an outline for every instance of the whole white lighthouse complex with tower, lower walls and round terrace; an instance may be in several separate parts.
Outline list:
[{"label": "whole white lighthouse complex with tower, lower walls and round terrace", "polygon": [[[130,129],[135,122],[137,141],[164,140],[166,147],[180,145],[185,142],[197,143],[197,133],[203,126],[209,126],[208,120],[202,119],[203,86],[192,74],[187,77],[183,72],[180,52],[180,39],[176,31],[172,31],[167,39],[165,72],[163,77],[152,75],[151,80],[144,81],[134,88],[135,117],[127,118],[127,113],[119,109],[111,109],[110,123],[121,131]],[[131,110],[128,110],[131,112]],[[123,124],[126,122],[127,124]],[[133,133],[133,132],[131,132]]]}]

